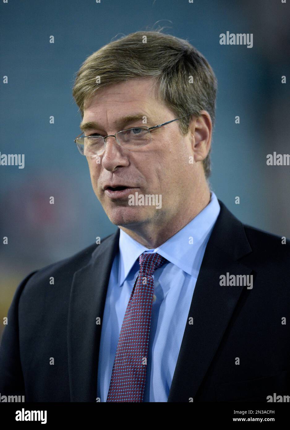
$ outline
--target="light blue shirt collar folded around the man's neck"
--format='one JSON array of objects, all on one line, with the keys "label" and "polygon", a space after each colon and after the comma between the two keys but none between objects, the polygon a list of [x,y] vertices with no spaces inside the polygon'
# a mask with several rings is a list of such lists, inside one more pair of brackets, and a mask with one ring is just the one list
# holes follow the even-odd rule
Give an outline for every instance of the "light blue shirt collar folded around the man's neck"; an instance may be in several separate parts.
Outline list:
[{"label": "light blue shirt collar folded around the man's neck", "polygon": [[211,191],[208,205],[174,236],[155,249],[146,248],[120,229],[118,285],[122,286],[135,261],[143,252],[158,252],[184,272],[197,278],[203,257],[202,251],[219,213],[220,204],[217,196]]}]

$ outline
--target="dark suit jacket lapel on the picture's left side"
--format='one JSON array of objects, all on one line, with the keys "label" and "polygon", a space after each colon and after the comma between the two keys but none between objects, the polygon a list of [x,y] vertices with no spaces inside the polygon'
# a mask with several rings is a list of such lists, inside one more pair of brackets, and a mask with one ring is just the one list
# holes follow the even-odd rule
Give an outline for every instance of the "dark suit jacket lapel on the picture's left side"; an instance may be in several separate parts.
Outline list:
[{"label": "dark suit jacket lapel on the picture's left side", "polygon": [[119,233],[104,240],[89,264],[77,270],[70,290],[67,321],[68,372],[71,402],[95,402],[101,323]]}]

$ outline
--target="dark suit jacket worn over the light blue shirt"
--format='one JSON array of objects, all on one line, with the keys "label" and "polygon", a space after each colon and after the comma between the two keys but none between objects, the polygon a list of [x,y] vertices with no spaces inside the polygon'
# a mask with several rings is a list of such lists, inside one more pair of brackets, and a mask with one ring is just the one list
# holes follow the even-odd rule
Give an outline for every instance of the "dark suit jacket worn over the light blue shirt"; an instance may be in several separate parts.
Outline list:
[{"label": "dark suit jacket worn over the light blue shirt", "polygon": [[[290,395],[290,241],[281,244],[281,237],[245,226],[219,203],[168,402],[267,402],[274,393]],[[96,401],[96,318],[102,321],[118,246],[119,229],[21,282],[0,347],[1,396]],[[227,272],[252,274],[253,289],[220,286]]]}]

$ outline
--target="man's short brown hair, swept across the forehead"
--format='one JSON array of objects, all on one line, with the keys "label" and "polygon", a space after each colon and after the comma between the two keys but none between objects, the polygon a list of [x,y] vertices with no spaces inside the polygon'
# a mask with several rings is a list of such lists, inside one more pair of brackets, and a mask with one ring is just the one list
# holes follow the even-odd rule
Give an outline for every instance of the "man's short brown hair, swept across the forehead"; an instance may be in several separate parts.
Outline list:
[{"label": "man's short brown hair, swept across the forehead", "polygon": [[[145,43],[146,42],[146,43]],[[101,83],[96,83],[96,77]],[[136,31],[89,55],[76,73],[73,98],[83,118],[86,98],[98,88],[136,77],[156,78],[159,97],[177,117],[208,111],[214,126],[217,79],[205,57],[186,40],[158,31]],[[192,83],[189,82],[192,81]],[[186,135],[192,116],[179,121]],[[203,166],[211,174],[210,152]]]}]

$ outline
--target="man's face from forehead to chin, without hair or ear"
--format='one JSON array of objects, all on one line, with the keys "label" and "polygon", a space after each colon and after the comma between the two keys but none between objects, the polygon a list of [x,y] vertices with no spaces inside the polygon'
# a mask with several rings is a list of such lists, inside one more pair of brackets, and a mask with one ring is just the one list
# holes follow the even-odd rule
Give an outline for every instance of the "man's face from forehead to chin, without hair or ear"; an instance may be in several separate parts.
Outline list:
[{"label": "man's face from forehead to chin, without hair or ear", "polygon": [[[147,118],[115,126],[122,116],[141,113]],[[84,104],[82,123],[94,121],[98,127],[85,131],[85,135],[99,133],[114,135],[123,129],[156,126],[173,120],[174,113],[158,99],[155,80],[137,78],[98,90],[98,94]],[[192,134],[182,136],[179,121],[152,130],[151,143],[128,150],[114,137],[106,139],[100,163],[96,158],[86,157],[93,190],[108,218],[119,226],[137,227],[143,223],[164,224],[180,212],[194,187],[195,164],[189,163],[193,156]],[[108,184],[122,184],[131,189],[119,198],[105,190]],[[161,195],[162,207],[130,206],[129,195]],[[159,198],[160,201],[160,198]]]}]

